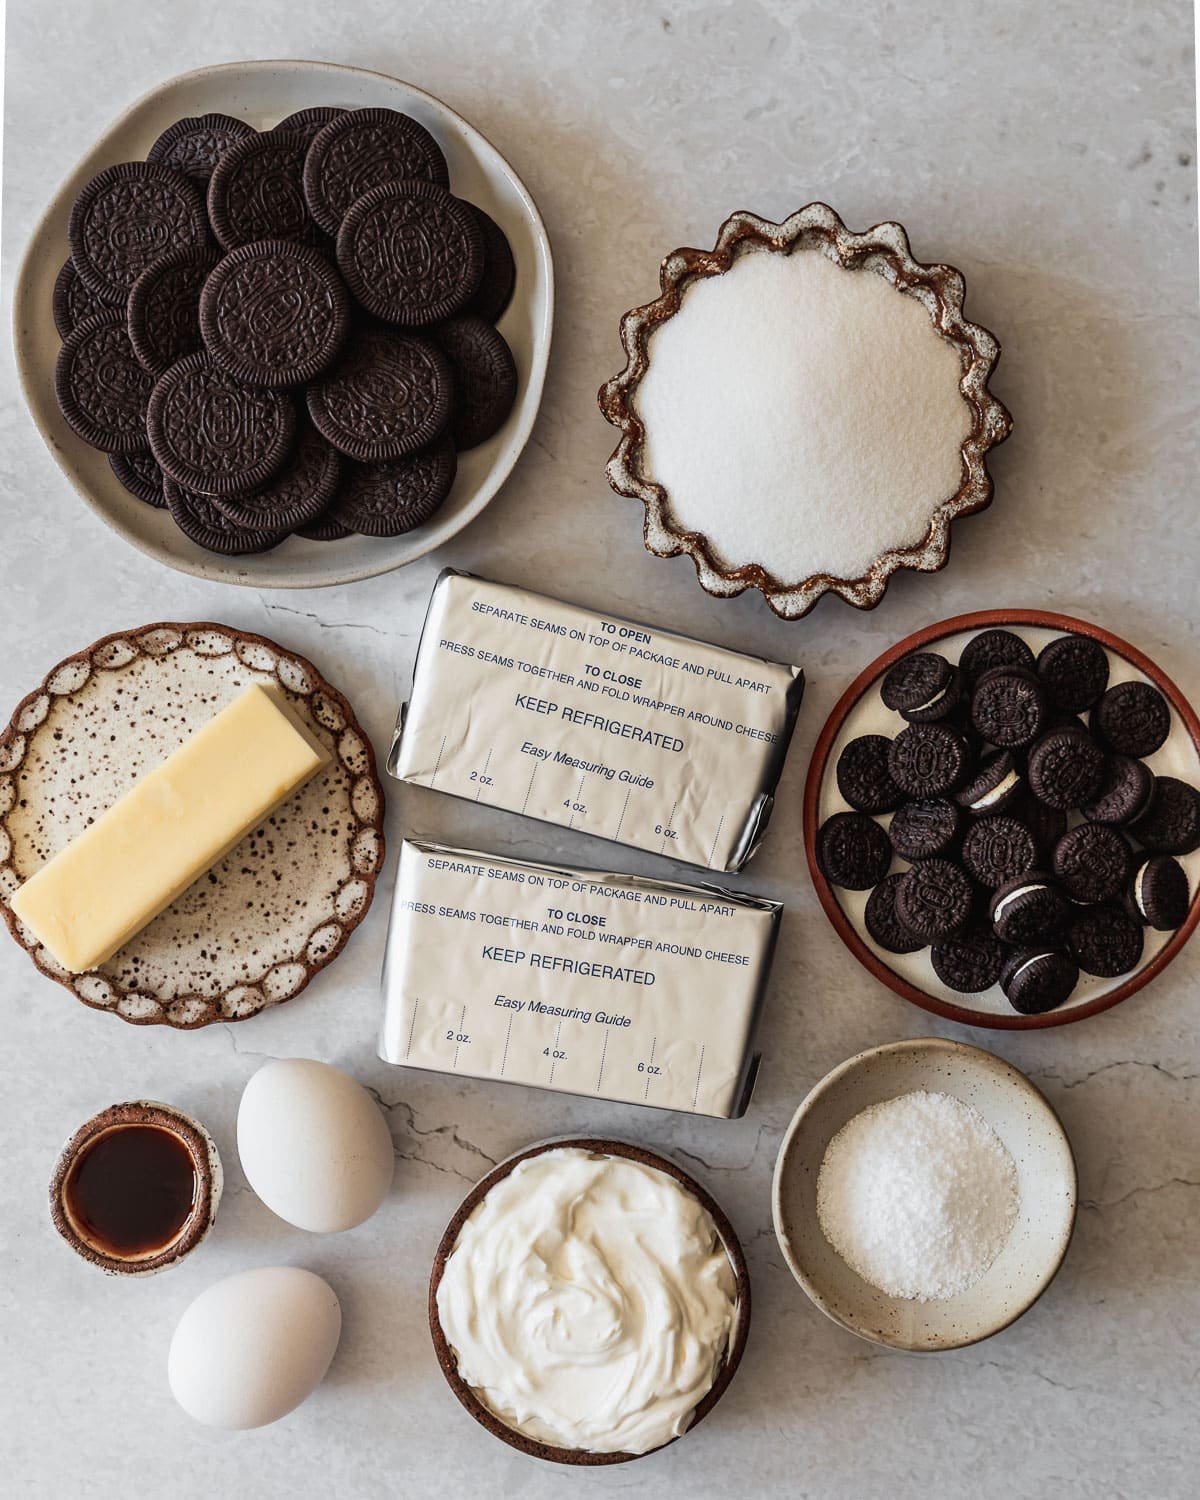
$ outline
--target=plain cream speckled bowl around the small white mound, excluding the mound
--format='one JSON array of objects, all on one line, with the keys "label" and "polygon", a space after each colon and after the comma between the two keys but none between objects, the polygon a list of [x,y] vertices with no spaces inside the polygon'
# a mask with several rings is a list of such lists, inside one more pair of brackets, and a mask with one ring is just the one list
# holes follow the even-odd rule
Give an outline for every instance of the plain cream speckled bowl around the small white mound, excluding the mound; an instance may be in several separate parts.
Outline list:
[{"label": "plain cream speckled bowl around the small white mound, excluding the mound", "polygon": [[[890,1298],[825,1239],[816,1182],[825,1149],[872,1104],[927,1089],[978,1110],[1017,1168],[1020,1208],[1012,1232],[980,1281],[954,1298]],[[1023,1072],[1000,1058],[938,1036],[861,1052],[828,1072],[783,1137],[771,1184],[783,1258],[820,1311],[860,1338],[888,1348],[936,1353],[978,1344],[1014,1323],[1058,1275],[1076,1224],[1076,1161],[1062,1124]]]}]

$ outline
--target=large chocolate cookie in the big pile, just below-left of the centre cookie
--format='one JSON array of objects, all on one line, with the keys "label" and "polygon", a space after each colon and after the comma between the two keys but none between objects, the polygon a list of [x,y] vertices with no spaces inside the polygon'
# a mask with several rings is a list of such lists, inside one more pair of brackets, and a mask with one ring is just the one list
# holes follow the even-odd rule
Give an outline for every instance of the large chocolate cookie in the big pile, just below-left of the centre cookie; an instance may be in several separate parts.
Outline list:
[{"label": "large chocolate cookie in the big pile, just below-left of the centre cookie", "polygon": [[278,390],[242,386],[207,354],[189,354],[154,384],[146,430],[162,472],[182,489],[249,495],[286,462],[296,408]]}]

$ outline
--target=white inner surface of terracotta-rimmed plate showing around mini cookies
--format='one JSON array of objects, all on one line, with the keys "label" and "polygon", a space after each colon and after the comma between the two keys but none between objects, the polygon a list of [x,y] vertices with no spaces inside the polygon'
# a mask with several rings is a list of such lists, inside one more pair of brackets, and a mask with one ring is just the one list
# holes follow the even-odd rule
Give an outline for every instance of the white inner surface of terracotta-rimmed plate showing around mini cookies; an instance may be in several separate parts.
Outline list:
[{"label": "white inner surface of terracotta-rimmed plate showing around mini cookies", "polygon": [[[1026,640],[1035,654],[1050,640],[1065,633],[1062,630],[1042,630],[1030,626],[1010,626],[1006,628],[1012,630],[1014,634]],[[968,640],[976,634],[980,634],[978,630],[963,630],[957,634],[945,636],[942,640],[928,642],[921,646],[921,650],[936,651],[939,656],[946,657],[946,660],[957,662],[963,654],[963,648]],[[904,728],[900,716],[884,706],[884,700],[879,696],[879,680],[882,675],[884,674],[880,672],[879,678],[876,678],[876,681],[866,688],[854,708],[850,708],[837,740],[834,740],[830,747],[830,756],[825,762],[825,772],[820,780],[820,798],[818,802],[819,824],[824,824],[826,818],[832,816],[832,813],[846,812],[849,807],[837,789],[836,776],[837,759],[849,741],[856,740],[860,735],[891,736],[897,735]],[[1138,670],[1132,662],[1116,651],[1108,651],[1108,682],[1116,684],[1131,680],[1143,682],[1148,681],[1144,672]],[[1184,782],[1191,782],[1194,786],[1200,786],[1200,752],[1197,752],[1184,720],[1179,717],[1173,705],[1172,732],[1167,742],[1161,750],[1156,750],[1152,756],[1146,758],[1146,765],[1155,772],[1155,776],[1176,776]],[[1078,818],[1072,816],[1072,822],[1078,820]],[[886,826],[891,822],[891,814],[879,818],[876,822]],[[1200,850],[1185,855],[1180,862],[1188,872],[1190,890],[1196,892],[1200,885]],[[903,870],[906,866],[903,861],[898,861],[894,868]],[[932,994],[934,999],[945,1000],[950,1005],[957,1005],[962,1010],[980,1011],[986,1017],[1014,1014],[1012,1006],[1008,1004],[999,984],[994,984],[990,990],[984,990],[981,994],[960,994],[957,990],[951,990],[950,986],[942,984],[933,972],[933,964],[928,960],[928,948],[921,948],[916,952],[894,954],[873,942],[867,933],[864,921],[867,898],[872,894],[870,891],[843,891],[836,885],[831,885],[830,890],[861,940],[872,950],[882,964],[892,970],[892,974],[898,974],[900,978],[908,980],[909,984],[922,990],[926,994]],[[1173,933],[1160,933],[1152,927],[1148,927],[1146,946],[1143,950],[1138,969],[1144,969],[1144,966],[1158,952],[1161,952],[1173,936]],[[1110,994],[1119,986],[1126,984],[1128,980],[1128,974],[1122,974],[1114,980],[1100,980],[1090,974],[1080,974],[1078,984],[1076,986],[1070,1000],[1059,1006],[1054,1014],[1058,1016],[1064,1011],[1071,1011],[1098,999],[1100,996]]]}]

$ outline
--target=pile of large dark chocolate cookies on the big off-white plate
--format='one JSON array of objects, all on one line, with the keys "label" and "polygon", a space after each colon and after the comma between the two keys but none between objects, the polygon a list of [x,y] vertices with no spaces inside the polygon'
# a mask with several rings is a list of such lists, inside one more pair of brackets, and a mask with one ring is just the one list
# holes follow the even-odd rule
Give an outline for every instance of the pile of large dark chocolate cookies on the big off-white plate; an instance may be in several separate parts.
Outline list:
[{"label": "pile of large dark chocolate cookies on the big off-white plate", "polygon": [[63,417],[212,552],[411,531],[516,400],[508,242],[393,110],[178,120],[68,238]]}]

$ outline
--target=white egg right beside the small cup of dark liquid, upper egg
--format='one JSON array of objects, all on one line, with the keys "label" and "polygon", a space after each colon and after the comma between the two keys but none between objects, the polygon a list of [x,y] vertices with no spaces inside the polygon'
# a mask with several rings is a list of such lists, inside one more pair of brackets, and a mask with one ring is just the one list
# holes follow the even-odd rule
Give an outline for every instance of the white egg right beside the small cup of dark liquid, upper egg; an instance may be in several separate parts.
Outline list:
[{"label": "white egg right beside the small cup of dark liquid, upper egg", "polygon": [[354,1228],[392,1186],[394,1156],[375,1100],[308,1058],[264,1064],[237,1112],[242,1170],[272,1212],[297,1228]]}]

